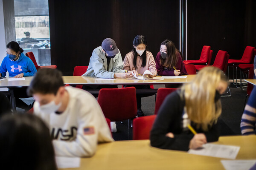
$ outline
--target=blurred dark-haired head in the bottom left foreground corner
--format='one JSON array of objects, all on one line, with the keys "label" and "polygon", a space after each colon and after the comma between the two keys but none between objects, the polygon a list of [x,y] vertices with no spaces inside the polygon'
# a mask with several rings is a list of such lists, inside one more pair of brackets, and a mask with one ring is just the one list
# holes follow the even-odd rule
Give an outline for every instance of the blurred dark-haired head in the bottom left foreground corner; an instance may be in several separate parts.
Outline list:
[{"label": "blurred dark-haired head in the bottom left foreground corner", "polygon": [[1,169],[57,170],[49,129],[28,113],[0,119]]}]

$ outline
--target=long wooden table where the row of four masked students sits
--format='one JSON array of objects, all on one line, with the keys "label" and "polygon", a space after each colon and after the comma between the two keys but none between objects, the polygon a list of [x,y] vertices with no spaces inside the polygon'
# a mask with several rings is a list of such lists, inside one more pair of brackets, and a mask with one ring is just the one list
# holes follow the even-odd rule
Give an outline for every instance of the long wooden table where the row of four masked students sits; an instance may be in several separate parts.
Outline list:
[{"label": "long wooden table where the row of four masked students sits", "polygon": [[[161,77],[161,76],[159,76]],[[81,76],[63,76],[64,84],[70,85],[148,85],[148,84],[183,84],[191,82],[195,75],[187,75],[186,78],[163,79],[163,80],[128,80],[128,79],[109,79],[99,80],[96,77],[81,77]],[[28,87],[33,77],[25,77],[25,80],[19,81],[0,81],[0,88],[10,89],[10,98],[13,108],[16,108],[13,88]],[[99,90],[87,90],[92,94],[98,94]],[[141,89],[137,93],[156,93],[157,89]]]}]

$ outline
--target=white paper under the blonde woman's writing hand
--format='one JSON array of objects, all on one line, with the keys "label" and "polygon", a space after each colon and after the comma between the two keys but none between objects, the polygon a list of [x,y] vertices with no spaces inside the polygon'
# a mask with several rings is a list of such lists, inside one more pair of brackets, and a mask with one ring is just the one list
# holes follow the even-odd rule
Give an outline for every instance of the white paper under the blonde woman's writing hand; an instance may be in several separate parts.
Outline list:
[{"label": "white paper under the blonde woman's writing hand", "polygon": [[188,153],[203,156],[213,156],[218,158],[236,159],[239,149],[239,146],[204,144],[202,149],[190,149]]}]

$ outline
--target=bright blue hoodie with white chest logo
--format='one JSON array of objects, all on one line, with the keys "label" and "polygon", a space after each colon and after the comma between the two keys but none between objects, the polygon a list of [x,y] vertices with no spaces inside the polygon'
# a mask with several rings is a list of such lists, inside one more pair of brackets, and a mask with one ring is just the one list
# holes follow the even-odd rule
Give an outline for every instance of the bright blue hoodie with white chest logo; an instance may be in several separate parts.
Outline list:
[{"label": "bright blue hoodie with white chest logo", "polygon": [[37,72],[32,60],[23,53],[20,54],[20,58],[17,61],[12,61],[7,56],[4,57],[0,66],[2,77],[6,76],[6,71],[9,72],[10,77],[15,77],[20,73],[23,73],[24,77],[34,76]]}]

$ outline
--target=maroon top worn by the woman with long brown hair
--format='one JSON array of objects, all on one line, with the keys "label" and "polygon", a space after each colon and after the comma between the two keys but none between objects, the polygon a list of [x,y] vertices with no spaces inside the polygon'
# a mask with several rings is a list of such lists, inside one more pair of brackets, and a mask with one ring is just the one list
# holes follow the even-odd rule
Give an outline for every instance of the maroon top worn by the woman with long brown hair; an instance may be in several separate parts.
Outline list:
[{"label": "maroon top worn by the woman with long brown hair", "polygon": [[[177,53],[177,55],[178,55],[178,62],[175,65],[175,68],[177,70],[180,70],[180,75],[187,74],[186,68],[185,68],[183,60],[180,56],[180,53]],[[157,57],[156,57],[157,74],[159,76],[175,76],[175,74],[174,74],[175,69],[174,68],[169,69],[169,68],[165,68],[162,65],[160,65],[160,57],[161,57],[161,54],[160,54],[160,52],[158,52]]]}]

